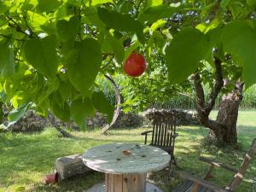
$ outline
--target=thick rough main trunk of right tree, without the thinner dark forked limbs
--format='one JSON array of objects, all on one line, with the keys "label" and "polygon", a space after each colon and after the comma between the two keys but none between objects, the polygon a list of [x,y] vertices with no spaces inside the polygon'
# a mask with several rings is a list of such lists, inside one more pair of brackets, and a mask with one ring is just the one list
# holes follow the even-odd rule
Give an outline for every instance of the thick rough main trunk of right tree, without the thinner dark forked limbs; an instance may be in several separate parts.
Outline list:
[{"label": "thick rough main trunk of right tree, without the thinner dark forked limbs", "polygon": [[238,109],[242,100],[243,83],[236,82],[235,89],[224,96],[218,109],[216,122],[217,129],[211,130],[209,138],[218,144],[237,143],[236,122],[238,117]]}]

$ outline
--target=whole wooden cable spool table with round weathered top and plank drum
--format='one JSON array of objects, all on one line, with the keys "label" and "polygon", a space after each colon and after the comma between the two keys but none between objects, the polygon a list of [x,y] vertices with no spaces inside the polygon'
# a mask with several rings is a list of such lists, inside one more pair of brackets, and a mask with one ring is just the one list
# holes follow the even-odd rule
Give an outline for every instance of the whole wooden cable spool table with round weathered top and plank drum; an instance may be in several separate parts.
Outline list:
[{"label": "whole wooden cable spool table with round weathered top and plank drum", "polygon": [[147,172],[168,166],[170,154],[148,145],[113,143],[90,148],[83,154],[84,164],[105,173],[105,183],[87,192],[162,192],[146,183]]}]

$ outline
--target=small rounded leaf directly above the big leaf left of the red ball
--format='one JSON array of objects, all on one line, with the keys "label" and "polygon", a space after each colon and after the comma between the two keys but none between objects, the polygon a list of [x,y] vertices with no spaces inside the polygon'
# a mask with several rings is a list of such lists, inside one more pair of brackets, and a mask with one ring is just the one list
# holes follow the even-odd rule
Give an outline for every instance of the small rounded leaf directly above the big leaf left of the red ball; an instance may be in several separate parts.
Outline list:
[{"label": "small rounded leaf directly above the big leaf left of the red ball", "polygon": [[80,21],[76,16],[73,16],[70,20],[58,20],[56,28],[62,40],[74,41],[79,34]]}]

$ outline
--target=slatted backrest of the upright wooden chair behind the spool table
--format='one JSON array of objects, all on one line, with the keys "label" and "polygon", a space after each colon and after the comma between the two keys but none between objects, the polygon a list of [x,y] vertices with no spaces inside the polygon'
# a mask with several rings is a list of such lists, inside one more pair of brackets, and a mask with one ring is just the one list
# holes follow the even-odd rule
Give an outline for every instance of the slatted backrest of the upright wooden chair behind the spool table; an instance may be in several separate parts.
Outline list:
[{"label": "slatted backrest of the upright wooden chair behind the spool table", "polygon": [[175,122],[175,113],[166,110],[155,111],[151,145],[165,148],[174,146]]}]

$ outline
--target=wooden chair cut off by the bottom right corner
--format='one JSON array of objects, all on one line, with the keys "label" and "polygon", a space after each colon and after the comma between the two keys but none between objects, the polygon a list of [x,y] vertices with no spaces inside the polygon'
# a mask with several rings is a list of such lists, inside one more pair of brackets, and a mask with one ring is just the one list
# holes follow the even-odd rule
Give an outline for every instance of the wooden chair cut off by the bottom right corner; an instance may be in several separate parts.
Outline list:
[{"label": "wooden chair cut off by the bottom right corner", "polygon": [[[178,172],[180,177],[185,178],[186,180],[177,186],[176,189],[173,189],[172,192],[235,192],[237,187],[242,181],[243,176],[247,171],[247,167],[251,160],[253,160],[253,155],[256,153],[256,138],[253,140],[252,146],[248,149],[247,154],[241,163],[240,169],[237,171],[236,169],[226,166],[222,163],[219,163],[216,160],[209,160],[201,157],[200,160],[211,164],[207,175],[204,179],[199,177],[194,177],[186,172]],[[233,177],[231,183],[227,185],[225,188],[221,188],[218,185],[207,181],[207,178],[212,177],[212,170],[214,167],[222,167],[227,171],[235,172],[235,176]]]}]

